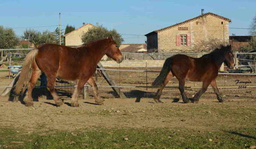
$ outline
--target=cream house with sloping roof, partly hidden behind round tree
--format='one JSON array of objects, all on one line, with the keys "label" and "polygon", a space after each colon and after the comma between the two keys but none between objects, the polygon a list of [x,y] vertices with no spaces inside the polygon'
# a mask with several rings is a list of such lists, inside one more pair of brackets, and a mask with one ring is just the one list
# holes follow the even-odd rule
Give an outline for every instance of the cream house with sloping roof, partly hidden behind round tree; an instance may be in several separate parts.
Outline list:
[{"label": "cream house with sloping roof, partly hidden behind round tree", "polygon": [[81,40],[81,35],[84,32],[87,32],[89,28],[96,27],[95,25],[92,25],[90,23],[83,23],[83,26],[77,28],[74,31],[69,32],[68,34],[64,35],[65,38],[65,45],[66,46],[78,46],[82,45],[83,42]]}]

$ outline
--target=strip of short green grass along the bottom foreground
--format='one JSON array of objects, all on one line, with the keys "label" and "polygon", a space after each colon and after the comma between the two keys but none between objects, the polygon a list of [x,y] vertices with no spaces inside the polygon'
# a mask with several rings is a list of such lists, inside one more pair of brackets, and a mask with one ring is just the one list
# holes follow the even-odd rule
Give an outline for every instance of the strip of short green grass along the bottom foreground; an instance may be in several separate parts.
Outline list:
[{"label": "strip of short green grass along the bottom foreground", "polygon": [[[124,140],[128,138],[128,140]],[[212,139],[212,141],[209,141]],[[17,143],[19,142],[19,143]],[[256,144],[256,128],[201,132],[182,128],[47,130],[28,134],[0,128],[0,148],[175,148],[241,149]]]}]

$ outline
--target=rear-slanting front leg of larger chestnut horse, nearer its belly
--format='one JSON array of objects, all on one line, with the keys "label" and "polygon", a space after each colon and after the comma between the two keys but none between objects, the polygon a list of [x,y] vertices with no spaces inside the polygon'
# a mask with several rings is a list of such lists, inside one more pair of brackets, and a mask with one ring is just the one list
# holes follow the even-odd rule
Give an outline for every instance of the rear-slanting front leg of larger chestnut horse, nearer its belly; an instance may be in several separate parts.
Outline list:
[{"label": "rear-slanting front leg of larger chestnut horse, nearer its belly", "polygon": [[80,94],[82,88],[84,87],[84,84],[87,82],[88,79],[89,79],[89,77],[85,77],[85,78],[81,78],[78,80],[77,88],[75,88],[75,91],[71,98],[71,106],[72,107],[79,107],[78,95]]}]

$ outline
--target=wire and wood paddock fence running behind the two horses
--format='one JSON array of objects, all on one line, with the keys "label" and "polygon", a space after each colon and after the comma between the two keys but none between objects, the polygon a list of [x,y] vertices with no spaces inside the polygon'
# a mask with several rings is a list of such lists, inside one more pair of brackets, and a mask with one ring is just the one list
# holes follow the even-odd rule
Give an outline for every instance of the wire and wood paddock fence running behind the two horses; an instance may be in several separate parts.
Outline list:
[{"label": "wire and wood paddock fence running behind the two horses", "polygon": [[[20,60],[11,62],[11,64],[18,62],[19,64],[22,63],[24,59],[20,57],[20,55],[26,55],[26,52],[31,49],[0,49],[0,51],[12,52],[12,56],[16,57],[17,59],[20,58]],[[22,52],[23,51],[23,52]],[[123,56],[125,57],[125,54],[123,53]],[[130,54],[130,53],[129,53]],[[173,53],[164,53],[167,57],[170,57],[172,55],[175,55]],[[18,55],[18,56],[17,56]],[[143,56],[142,54],[134,54],[139,55],[137,57]],[[191,57],[201,57],[203,54],[186,54]],[[193,56],[194,55],[194,56]],[[234,53],[235,57],[239,58],[236,62],[236,69],[240,69],[241,71],[228,71],[220,72],[219,76],[217,78],[217,85],[220,89],[220,92],[223,95],[226,96],[233,96],[233,92],[236,92],[236,96],[239,97],[255,97],[254,94],[255,88],[256,88],[256,73],[255,73],[255,55],[256,53]],[[163,55],[162,55],[163,56]],[[127,56],[128,57],[128,56]],[[155,56],[156,57],[156,56]],[[145,58],[145,57],[144,57]],[[127,59],[126,59],[127,60]],[[99,76],[97,73],[94,77],[94,80],[99,88],[99,94],[103,98],[114,98],[118,97],[119,95],[113,91],[112,87],[120,88],[120,90],[125,94],[128,98],[137,98],[138,100],[140,98],[152,98],[157,91],[156,88],[151,87],[151,83],[154,81],[154,79],[159,75],[161,71],[161,67],[163,64],[154,64],[154,61],[158,61],[160,59],[150,59],[144,61],[136,61],[136,60],[127,60],[134,62],[134,64],[117,64],[113,63],[112,67],[105,67],[104,62],[101,61],[105,69],[97,69],[97,71],[106,71],[109,73],[110,77],[116,82],[116,86],[110,86],[108,85],[107,81],[104,79],[104,77]],[[162,60],[164,61],[164,60]],[[249,62],[249,63],[248,63]],[[3,63],[6,63],[6,61],[3,61]],[[152,63],[152,64],[151,64]],[[0,69],[0,73],[7,73],[4,71],[8,71],[9,69]],[[248,71],[245,71],[248,70]],[[250,71],[249,71],[250,70]],[[254,71],[253,71],[254,70]],[[12,79],[12,78],[11,78]],[[237,83],[239,82],[248,82],[248,83]],[[62,96],[62,98],[70,98],[72,93],[74,92],[74,88],[77,85],[77,81],[65,81],[61,79],[56,79],[56,92]],[[85,88],[88,88],[85,85]],[[196,91],[199,91],[202,86],[202,83],[200,82],[191,82],[187,81],[185,84],[186,92],[188,97],[195,94]],[[241,87],[241,88],[240,88]],[[0,85],[0,88],[10,88],[10,86],[6,85]],[[38,82],[36,83],[36,87],[33,90],[33,92],[36,92],[39,96],[42,93],[41,88],[45,88],[45,86],[41,85],[41,79],[38,79]],[[212,89],[209,87],[208,92],[211,94],[204,94],[204,98],[212,98]],[[93,91],[92,88],[88,88],[88,95],[89,98],[93,97]],[[81,94],[81,96],[83,96]],[[215,95],[214,95],[215,96]],[[85,95],[83,96],[84,98]],[[180,98],[179,90],[178,90],[178,80],[176,78],[173,78],[166,86],[166,88],[163,91],[162,94],[163,98],[169,98],[169,97],[177,97]]]}]

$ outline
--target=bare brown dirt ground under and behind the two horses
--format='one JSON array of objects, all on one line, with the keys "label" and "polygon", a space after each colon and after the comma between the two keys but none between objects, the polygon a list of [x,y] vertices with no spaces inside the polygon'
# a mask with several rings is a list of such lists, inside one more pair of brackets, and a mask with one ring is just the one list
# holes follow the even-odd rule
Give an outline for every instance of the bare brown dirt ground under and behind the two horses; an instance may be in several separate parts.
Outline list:
[{"label": "bare brown dirt ground under and behind the two horses", "polygon": [[[118,68],[119,69],[119,68]],[[142,70],[141,68],[122,68]],[[160,69],[149,69],[149,71]],[[145,72],[119,72],[108,71],[117,85],[146,86]],[[148,86],[154,81],[159,73],[148,73]],[[0,72],[1,86],[7,86],[11,79],[8,79],[8,72]],[[224,82],[226,80],[227,82]],[[235,80],[251,81],[251,83],[235,84]],[[70,98],[62,96],[65,104],[58,107],[53,100],[34,98],[34,107],[25,107],[22,99],[17,102],[10,102],[9,96],[0,97],[0,127],[25,127],[33,131],[35,127],[44,126],[45,129],[55,128],[61,130],[73,130],[86,127],[186,127],[199,130],[218,130],[222,127],[245,127],[256,126],[256,76],[224,76],[217,78],[218,86],[235,86],[235,88],[220,88],[226,102],[218,103],[216,95],[211,87],[200,98],[199,104],[184,104],[179,93],[178,81],[173,78],[168,87],[163,90],[161,100],[163,104],[155,104],[153,95],[156,88],[122,88],[128,97],[126,99],[116,98],[116,93],[107,87],[99,87],[100,95],[105,98],[104,105],[97,105],[93,100],[92,89],[89,88],[89,97],[86,100],[80,99],[80,107],[70,106]],[[98,85],[108,85],[103,77],[98,77]],[[239,89],[238,86],[247,86]],[[185,86],[200,87],[200,82],[188,81]],[[3,91],[3,88],[1,88]],[[188,97],[192,97],[199,88],[187,88]],[[34,94],[36,91],[33,91]],[[148,92],[148,93],[147,93]],[[148,97],[148,98],[146,98]],[[242,109],[242,110],[241,110]],[[241,116],[238,119],[235,118]],[[246,118],[247,116],[248,118]],[[246,121],[244,119],[247,119]]]}]

